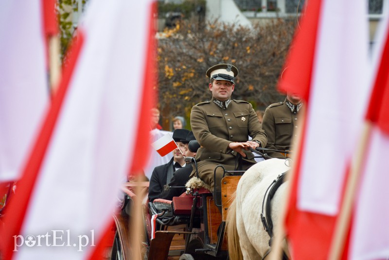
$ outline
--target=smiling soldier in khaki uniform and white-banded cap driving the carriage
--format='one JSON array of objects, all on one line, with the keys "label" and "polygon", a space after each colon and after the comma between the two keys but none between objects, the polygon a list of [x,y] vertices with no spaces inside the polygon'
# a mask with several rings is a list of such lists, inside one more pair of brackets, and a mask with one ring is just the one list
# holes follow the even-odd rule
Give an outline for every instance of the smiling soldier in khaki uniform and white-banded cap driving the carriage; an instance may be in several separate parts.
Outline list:
[{"label": "smiling soldier in khaki uniform and white-banded cap driving the carriage", "polygon": [[[267,138],[251,104],[230,99],[238,69],[230,64],[218,64],[206,74],[211,78],[212,99],[192,108],[191,127],[201,145],[195,157],[199,177],[213,192],[215,183],[217,190],[220,187],[220,180],[213,180],[215,167],[221,164],[227,170],[246,170],[256,163],[248,148],[265,147]],[[248,136],[252,140],[248,141]],[[217,179],[222,172],[219,167]],[[195,169],[191,176],[195,176]]]}]

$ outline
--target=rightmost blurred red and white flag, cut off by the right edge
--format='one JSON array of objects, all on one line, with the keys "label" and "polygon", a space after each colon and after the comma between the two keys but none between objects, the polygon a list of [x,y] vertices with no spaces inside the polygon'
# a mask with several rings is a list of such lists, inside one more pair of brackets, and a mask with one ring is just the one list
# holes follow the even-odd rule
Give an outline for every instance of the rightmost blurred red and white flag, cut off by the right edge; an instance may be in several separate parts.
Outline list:
[{"label": "rightmost blurred red and white flag, cut off by the right edge", "polygon": [[[366,161],[359,180],[348,258],[389,258],[389,19],[383,19],[374,56],[377,68],[367,113],[372,128]],[[381,42],[382,40],[382,42]],[[374,59],[374,60],[375,60]]]}]

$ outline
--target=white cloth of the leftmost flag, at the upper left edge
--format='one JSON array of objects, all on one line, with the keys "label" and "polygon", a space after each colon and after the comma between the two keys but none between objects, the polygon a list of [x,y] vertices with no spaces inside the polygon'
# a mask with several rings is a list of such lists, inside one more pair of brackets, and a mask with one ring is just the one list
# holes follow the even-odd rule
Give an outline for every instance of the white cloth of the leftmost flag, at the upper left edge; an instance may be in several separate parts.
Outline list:
[{"label": "white cloth of the leftmost flag, at the upper left edge", "polygon": [[48,103],[41,5],[0,1],[0,182],[19,177]]}]

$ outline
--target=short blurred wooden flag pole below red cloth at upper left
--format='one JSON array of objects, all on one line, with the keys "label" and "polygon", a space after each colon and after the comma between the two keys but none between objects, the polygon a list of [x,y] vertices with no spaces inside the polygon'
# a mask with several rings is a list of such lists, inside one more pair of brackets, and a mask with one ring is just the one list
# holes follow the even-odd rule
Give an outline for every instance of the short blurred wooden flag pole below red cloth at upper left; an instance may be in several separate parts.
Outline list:
[{"label": "short blurred wooden flag pole below red cloth at upper left", "polygon": [[61,78],[60,62],[60,42],[59,35],[49,37],[49,76],[50,76],[50,93],[54,94],[58,88],[59,79]]}]

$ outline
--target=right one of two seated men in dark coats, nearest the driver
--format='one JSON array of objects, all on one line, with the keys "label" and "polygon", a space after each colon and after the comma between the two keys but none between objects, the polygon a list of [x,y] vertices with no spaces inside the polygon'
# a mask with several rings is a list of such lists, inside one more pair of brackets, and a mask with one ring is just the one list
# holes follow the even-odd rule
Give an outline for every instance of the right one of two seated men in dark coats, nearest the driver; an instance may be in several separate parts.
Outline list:
[{"label": "right one of two seated men in dark coats, nearest the driver", "polygon": [[[198,146],[189,146],[189,142],[195,142],[195,135],[190,131],[186,136],[185,140],[181,140],[181,143],[185,144],[185,157],[195,157]],[[193,143],[193,142],[192,142]],[[191,144],[192,144],[191,143]],[[193,143],[194,144],[194,143]],[[170,183],[163,190],[160,198],[165,200],[172,200],[173,197],[177,197],[186,191],[186,188],[175,188],[175,186],[185,186],[185,184],[189,181],[189,176],[193,170],[193,165],[191,162],[187,162],[185,167],[178,169],[170,181]]]}]

